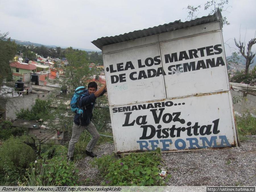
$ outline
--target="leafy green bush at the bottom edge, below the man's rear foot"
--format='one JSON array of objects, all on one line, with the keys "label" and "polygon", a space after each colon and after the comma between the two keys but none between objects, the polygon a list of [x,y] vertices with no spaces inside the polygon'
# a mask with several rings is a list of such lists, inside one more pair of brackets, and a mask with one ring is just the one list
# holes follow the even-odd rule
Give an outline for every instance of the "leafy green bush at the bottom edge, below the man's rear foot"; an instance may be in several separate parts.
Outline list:
[{"label": "leafy green bush at the bottom edge, below the man's rear foot", "polygon": [[28,186],[73,186],[78,183],[78,170],[73,163],[67,163],[63,156],[50,160],[36,160],[27,171]]}]

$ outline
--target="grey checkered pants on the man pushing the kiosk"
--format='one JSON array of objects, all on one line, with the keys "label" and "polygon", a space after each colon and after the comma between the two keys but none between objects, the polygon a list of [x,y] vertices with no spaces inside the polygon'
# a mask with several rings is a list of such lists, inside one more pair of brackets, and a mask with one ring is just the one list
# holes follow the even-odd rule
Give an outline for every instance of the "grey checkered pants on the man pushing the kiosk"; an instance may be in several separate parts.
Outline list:
[{"label": "grey checkered pants on the man pushing the kiosk", "polygon": [[90,122],[89,125],[80,125],[80,126],[73,123],[72,137],[71,137],[71,140],[69,141],[69,150],[68,150],[69,157],[73,157],[75,144],[77,143],[84,129],[86,129],[92,135],[92,139],[88,143],[86,150],[89,152],[92,152],[92,149],[96,145],[100,137],[100,134],[98,133],[95,125],[92,122]]}]

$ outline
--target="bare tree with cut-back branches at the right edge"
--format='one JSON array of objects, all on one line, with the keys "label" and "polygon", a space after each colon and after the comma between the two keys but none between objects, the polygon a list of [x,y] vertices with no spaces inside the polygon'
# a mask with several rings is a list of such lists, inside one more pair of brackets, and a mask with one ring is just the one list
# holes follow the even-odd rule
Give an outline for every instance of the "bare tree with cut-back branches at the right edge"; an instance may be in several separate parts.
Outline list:
[{"label": "bare tree with cut-back branches at the right edge", "polygon": [[247,44],[246,54],[245,54],[245,42],[241,42],[240,39],[239,39],[239,42],[237,42],[237,40],[235,38],[235,44],[238,47],[239,52],[241,53],[241,55],[245,58],[245,71],[244,71],[244,74],[248,75],[248,73],[249,73],[249,66],[253,63],[253,58],[255,57],[255,54],[256,54],[256,52],[251,51],[252,46],[254,44],[256,44],[255,35],[254,35],[254,38],[251,39],[249,41],[249,43]]}]

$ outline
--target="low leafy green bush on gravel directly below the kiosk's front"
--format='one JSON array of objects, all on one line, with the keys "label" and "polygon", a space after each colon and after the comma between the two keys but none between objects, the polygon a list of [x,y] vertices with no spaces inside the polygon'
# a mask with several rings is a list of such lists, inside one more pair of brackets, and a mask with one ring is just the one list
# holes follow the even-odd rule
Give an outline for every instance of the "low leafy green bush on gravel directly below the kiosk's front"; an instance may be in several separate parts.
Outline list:
[{"label": "low leafy green bush on gravel directly below the kiosk's front", "polygon": [[158,176],[161,162],[160,149],[153,152],[139,154],[129,154],[121,159],[116,159],[113,155],[106,155],[94,159],[92,164],[97,165],[100,172],[105,177],[102,185],[117,186],[153,186],[165,185],[171,175],[166,180]]}]

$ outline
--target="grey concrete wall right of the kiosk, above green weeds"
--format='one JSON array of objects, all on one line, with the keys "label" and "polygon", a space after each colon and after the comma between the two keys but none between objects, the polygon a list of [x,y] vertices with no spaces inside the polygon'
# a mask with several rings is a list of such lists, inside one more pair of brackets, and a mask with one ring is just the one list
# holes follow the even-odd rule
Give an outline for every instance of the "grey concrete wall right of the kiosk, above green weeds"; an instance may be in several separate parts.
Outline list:
[{"label": "grey concrete wall right of the kiosk, above green weeds", "polygon": [[233,104],[234,110],[243,113],[249,111],[250,113],[256,115],[256,94],[253,93],[245,93],[245,91],[233,90],[230,89],[232,100],[234,98],[240,99],[240,101],[236,104]]}]

